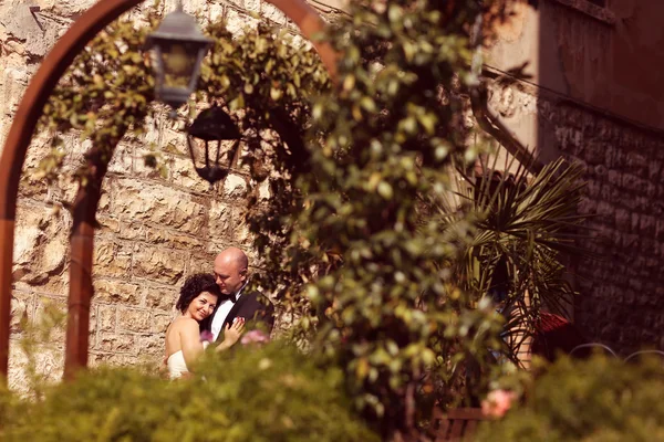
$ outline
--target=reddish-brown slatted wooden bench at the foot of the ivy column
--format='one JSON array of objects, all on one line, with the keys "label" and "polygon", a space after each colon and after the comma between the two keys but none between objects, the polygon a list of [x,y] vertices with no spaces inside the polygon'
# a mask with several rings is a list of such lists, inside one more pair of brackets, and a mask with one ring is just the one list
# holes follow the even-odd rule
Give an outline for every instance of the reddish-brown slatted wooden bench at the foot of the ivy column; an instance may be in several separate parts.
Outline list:
[{"label": "reddish-brown slatted wooden bench at the foot of the ivy column", "polygon": [[435,442],[471,441],[479,422],[489,419],[480,408],[457,408],[445,413],[436,407],[430,429],[436,435]]}]

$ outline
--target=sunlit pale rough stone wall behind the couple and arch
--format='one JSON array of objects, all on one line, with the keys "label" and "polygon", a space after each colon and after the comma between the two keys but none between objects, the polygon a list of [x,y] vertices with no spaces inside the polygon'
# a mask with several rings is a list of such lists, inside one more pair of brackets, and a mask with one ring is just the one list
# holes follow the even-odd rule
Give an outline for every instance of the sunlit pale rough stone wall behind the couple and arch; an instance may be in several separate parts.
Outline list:
[{"label": "sunlit pale rough stone wall behind the couple and arch", "polygon": [[[25,3],[0,2],[0,146],[43,55],[94,1],[38,1],[41,10],[35,13]],[[141,8],[152,3],[146,1]],[[174,3],[167,0],[163,9],[169,11]],[[225,17],[234,32],[256,23],[249,13],[291,27],[280,11],[261,0],[184,3],[187,12],[203,21]],[[141,8],[129,12],[136,23],[144,22]],[[159,361],[164,332],[175,315],[173,306],[184,278],[211,271],[215,254],[229,245],[243,248],[253,257],[241,223],[250,177],[236,170],[210,189],[191,167],[180,128],[166,117],[149,126],[145,136],[121,143],[103,187],[101,229],[95,236],[92,366]],[[74,135],[64,140],[69,154],[64,170],[71,172],[89,146]],[[66,180],[46,186],[31,175],[49,152],[49,143],[38,136],[30,146],[18,202],[9,383],[19,389],[25,386],[25,356],[18,346],[21,318],[39,318],[50,302],[64,307],[69,290],[72,217],[61,202],[73,201],[75,187]],[[152,144],[167,166],[165,176],[144,165]],[[269,196],[264,185],[257,189],[261,198]],[[38,355],[39,370],[52,379],[62,375],[63,347],[64,334],[56,330]]]}]

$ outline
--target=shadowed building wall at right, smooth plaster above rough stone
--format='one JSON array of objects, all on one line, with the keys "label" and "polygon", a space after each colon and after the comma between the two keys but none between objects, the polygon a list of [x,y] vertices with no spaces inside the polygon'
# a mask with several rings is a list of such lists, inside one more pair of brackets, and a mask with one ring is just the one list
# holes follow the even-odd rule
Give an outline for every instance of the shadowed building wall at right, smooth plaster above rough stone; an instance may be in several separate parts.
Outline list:
[{"label": "shadowed building wall at right, smooth plaster above rough stone", "polygon": [[[585,166],[584,245],[601,261],[573,264],[577,323],[622,352],[664,349],[664,84],[650,67],[663,56],[664,3],[520,3],[486,51],[487,72],[511,84],[491,107],[544,161]],[[526,62],[530,77],[510,77]]]}]

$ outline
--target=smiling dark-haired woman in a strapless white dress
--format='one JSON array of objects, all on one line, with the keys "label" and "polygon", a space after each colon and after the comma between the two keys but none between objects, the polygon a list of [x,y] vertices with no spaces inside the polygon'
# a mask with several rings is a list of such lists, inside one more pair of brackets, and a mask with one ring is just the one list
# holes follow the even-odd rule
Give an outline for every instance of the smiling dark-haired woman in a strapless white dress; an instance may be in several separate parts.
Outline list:
[{"label": "smiling dark-haired woman in a strapless white dress", "polygon": [[[166,365],[170,379],[188,376],[189,367],[203,354],[208,343],[200,339],[199,324],[215,312],[220,296],[212,275],[198,273],[185,281],[175,304],[181,315],[166,330]],[[226,326],[224,341],[216,348],[217,351],[231,347],[243,330],[242,319]]]}]

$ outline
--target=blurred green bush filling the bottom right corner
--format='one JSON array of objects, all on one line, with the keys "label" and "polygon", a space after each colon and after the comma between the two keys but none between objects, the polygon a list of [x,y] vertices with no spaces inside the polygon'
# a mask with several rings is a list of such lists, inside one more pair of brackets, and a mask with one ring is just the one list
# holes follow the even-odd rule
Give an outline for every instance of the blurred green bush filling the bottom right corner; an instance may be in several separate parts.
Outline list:
[{"label": "blurred green bush filling the bottom right corner", "polygon": [[561,359],[531,379],[526,401],[478,441],[664,441],[662,360]]}]

